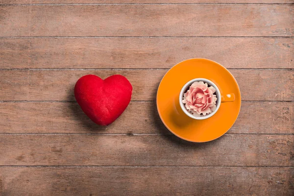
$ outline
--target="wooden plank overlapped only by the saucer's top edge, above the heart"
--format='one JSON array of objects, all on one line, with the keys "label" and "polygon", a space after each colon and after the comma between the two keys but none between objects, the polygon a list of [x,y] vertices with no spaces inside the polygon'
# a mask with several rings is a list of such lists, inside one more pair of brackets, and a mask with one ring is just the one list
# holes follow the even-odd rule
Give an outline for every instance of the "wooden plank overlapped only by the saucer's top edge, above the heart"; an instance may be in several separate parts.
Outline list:
[{"label": "wooden plank overlapped only by the saucer's top edge, above the heart", "polygon": [[0,68],[171,68],[189,58],[226,68],[294,68],[293,38],[0,39]]}]

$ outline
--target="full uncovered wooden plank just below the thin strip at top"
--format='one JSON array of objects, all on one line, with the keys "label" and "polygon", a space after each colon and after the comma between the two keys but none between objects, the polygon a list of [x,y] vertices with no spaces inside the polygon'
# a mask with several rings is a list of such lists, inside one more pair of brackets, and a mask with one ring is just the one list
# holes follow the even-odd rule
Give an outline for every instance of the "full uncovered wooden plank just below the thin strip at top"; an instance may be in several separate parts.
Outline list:
[{"label": "full uncovered wooden plank just below the thin strip at top", "polygon": [[6,5],[0,36],[293,36],[293,18],[292,4]]}]

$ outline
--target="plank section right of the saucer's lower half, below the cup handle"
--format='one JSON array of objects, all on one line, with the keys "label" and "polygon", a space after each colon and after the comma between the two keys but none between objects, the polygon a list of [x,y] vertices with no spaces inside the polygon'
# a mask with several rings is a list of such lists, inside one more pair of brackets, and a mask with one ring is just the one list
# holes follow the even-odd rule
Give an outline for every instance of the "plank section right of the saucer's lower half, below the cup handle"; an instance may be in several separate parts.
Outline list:
[{"label": "plank section right of the saucer's lower half, below the cup handle", "polygon": [[293,111],[293,102],[242,102],[238,119],[229,133],[291,134],[294,130]]}]

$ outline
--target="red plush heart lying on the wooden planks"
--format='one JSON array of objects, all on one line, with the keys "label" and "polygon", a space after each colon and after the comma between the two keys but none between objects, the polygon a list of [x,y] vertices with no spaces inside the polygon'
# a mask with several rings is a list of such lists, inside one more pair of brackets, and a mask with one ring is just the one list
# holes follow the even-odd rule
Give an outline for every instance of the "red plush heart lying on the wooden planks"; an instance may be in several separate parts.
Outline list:
[{"label": "red plush heart lying on the wooden planks", "polygon": [[132,89],[123,75],[112,75],[104,80],[96,75],[85,75],[77,80],[74,96],[94,123],[108,125],[123,113],[131,100]]}]

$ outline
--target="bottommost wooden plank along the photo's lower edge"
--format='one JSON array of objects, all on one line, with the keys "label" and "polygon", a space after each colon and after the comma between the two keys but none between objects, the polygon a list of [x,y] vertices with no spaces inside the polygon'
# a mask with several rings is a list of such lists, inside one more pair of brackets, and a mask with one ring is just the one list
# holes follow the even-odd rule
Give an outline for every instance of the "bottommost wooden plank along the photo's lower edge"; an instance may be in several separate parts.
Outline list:
[{"label": "bottommost wooden plank along the photo's lower edge", "polygon": [[270,167],[0,168],[2,196],[293,196],[293,176]]}]

